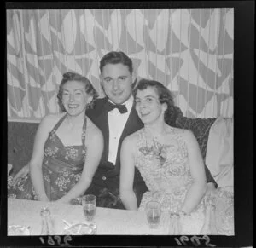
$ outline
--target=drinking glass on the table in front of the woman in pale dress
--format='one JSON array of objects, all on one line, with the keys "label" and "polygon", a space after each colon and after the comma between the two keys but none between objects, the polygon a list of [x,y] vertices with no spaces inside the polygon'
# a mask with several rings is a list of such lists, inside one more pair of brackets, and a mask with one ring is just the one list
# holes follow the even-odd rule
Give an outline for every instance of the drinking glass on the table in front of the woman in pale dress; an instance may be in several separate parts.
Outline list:
[{"label": "drinking glass on the table in front of the woman in pale dress", "polygon": [[149,201],[146,205],[149,228],[158,228],[161,216],[161,205],[157,201]]}]

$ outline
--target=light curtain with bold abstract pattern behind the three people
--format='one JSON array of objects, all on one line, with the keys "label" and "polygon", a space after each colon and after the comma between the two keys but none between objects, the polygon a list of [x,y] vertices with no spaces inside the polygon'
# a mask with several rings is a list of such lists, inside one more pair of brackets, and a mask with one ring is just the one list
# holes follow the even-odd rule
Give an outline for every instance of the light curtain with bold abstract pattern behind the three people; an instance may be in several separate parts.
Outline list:
[{"label": "light curtain with bold abstract pattern behind the three people", "polygon": [[165,84],[189,118],[233,116],[234,9],[7,10],[9,120],[59,112],[67,71],[103,97],[99,61],[131,57],[138,78]]}]

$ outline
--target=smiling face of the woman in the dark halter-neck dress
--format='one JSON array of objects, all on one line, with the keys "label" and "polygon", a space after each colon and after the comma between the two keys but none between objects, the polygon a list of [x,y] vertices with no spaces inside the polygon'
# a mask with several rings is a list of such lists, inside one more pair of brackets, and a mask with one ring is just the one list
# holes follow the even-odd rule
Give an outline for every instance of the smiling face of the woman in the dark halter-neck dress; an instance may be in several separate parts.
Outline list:
[{"label": "smiling face of the woman in the dark halter-neck dress", "polygon": [[68,114],[72,116],[85,112],[86,105],[92,96],[85,91],[84,83],[79,81],[68,81],[62,87],[62,104]]}]

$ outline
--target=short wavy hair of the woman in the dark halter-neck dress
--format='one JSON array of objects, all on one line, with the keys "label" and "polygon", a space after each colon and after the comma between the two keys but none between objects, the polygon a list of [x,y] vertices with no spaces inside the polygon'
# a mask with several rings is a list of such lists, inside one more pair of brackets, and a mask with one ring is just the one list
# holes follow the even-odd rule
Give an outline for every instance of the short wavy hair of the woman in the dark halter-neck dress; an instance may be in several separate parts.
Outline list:
[{"label": "short wavy hair of the woman in the dark halter-neck dress", "polygon": [[85,78],[82,75],[79,75],[76,72],[66,72],[63,74],[63,78],[61,80],[61,84],[59,87],[59,92],[57,94],[58,104],[61,109],[61,112],[66,112],[66,109],[62,103],[62,93],[63,93],[63,85],[66,84],[68,81],[78,81],[84,84],[85,92],[88,95],[92,96],[92,101],[90,101],[90,103],[87,104],[86,109],[93,108],[96,98],[98,97],[98,94],[96,92],[96,89],[94,89],[92,84],[90,83],[90,80],[88,78]]}]

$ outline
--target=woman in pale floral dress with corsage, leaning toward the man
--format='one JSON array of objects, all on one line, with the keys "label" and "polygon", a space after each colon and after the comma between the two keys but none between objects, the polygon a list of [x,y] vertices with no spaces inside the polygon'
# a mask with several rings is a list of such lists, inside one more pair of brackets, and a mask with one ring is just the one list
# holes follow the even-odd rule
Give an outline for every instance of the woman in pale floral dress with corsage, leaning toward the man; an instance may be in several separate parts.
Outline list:
[{"label": "woman in pale floral dress with corsage, leaning toward the man", "polygon": [[207,191],[195,136],[165,122],[174,107],[171,92],[159,82],[142,79],[134,95],[144,127],[126,137],[121,148],[120,196],[125,208],[137,209],[132,189],[136,166],[149,190],[143,194],[139,211],[144,211],[148,201],[159,201],[162,211],[172,217],[170,234],[232,234],[232,218],[218,207],[230,207],[232,213],[232,196]]}]

